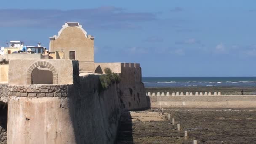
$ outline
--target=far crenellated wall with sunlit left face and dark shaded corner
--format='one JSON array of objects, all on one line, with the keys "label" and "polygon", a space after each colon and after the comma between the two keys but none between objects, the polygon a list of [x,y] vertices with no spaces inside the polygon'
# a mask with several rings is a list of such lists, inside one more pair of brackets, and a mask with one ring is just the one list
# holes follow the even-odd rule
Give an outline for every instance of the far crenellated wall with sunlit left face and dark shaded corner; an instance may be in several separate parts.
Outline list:
[{"label": "far crenellated wall with sunlit left face and dark shaded corner", "polygon": [[121,77],[120,92],[122,107],[127,110],[147,109],[150,107],[149,97],[145,94],[144,84],[141,81],[141,67],[135,63],[84,63],[79,65],[85,71],[105,73],[105,68],[118,73]]}]

